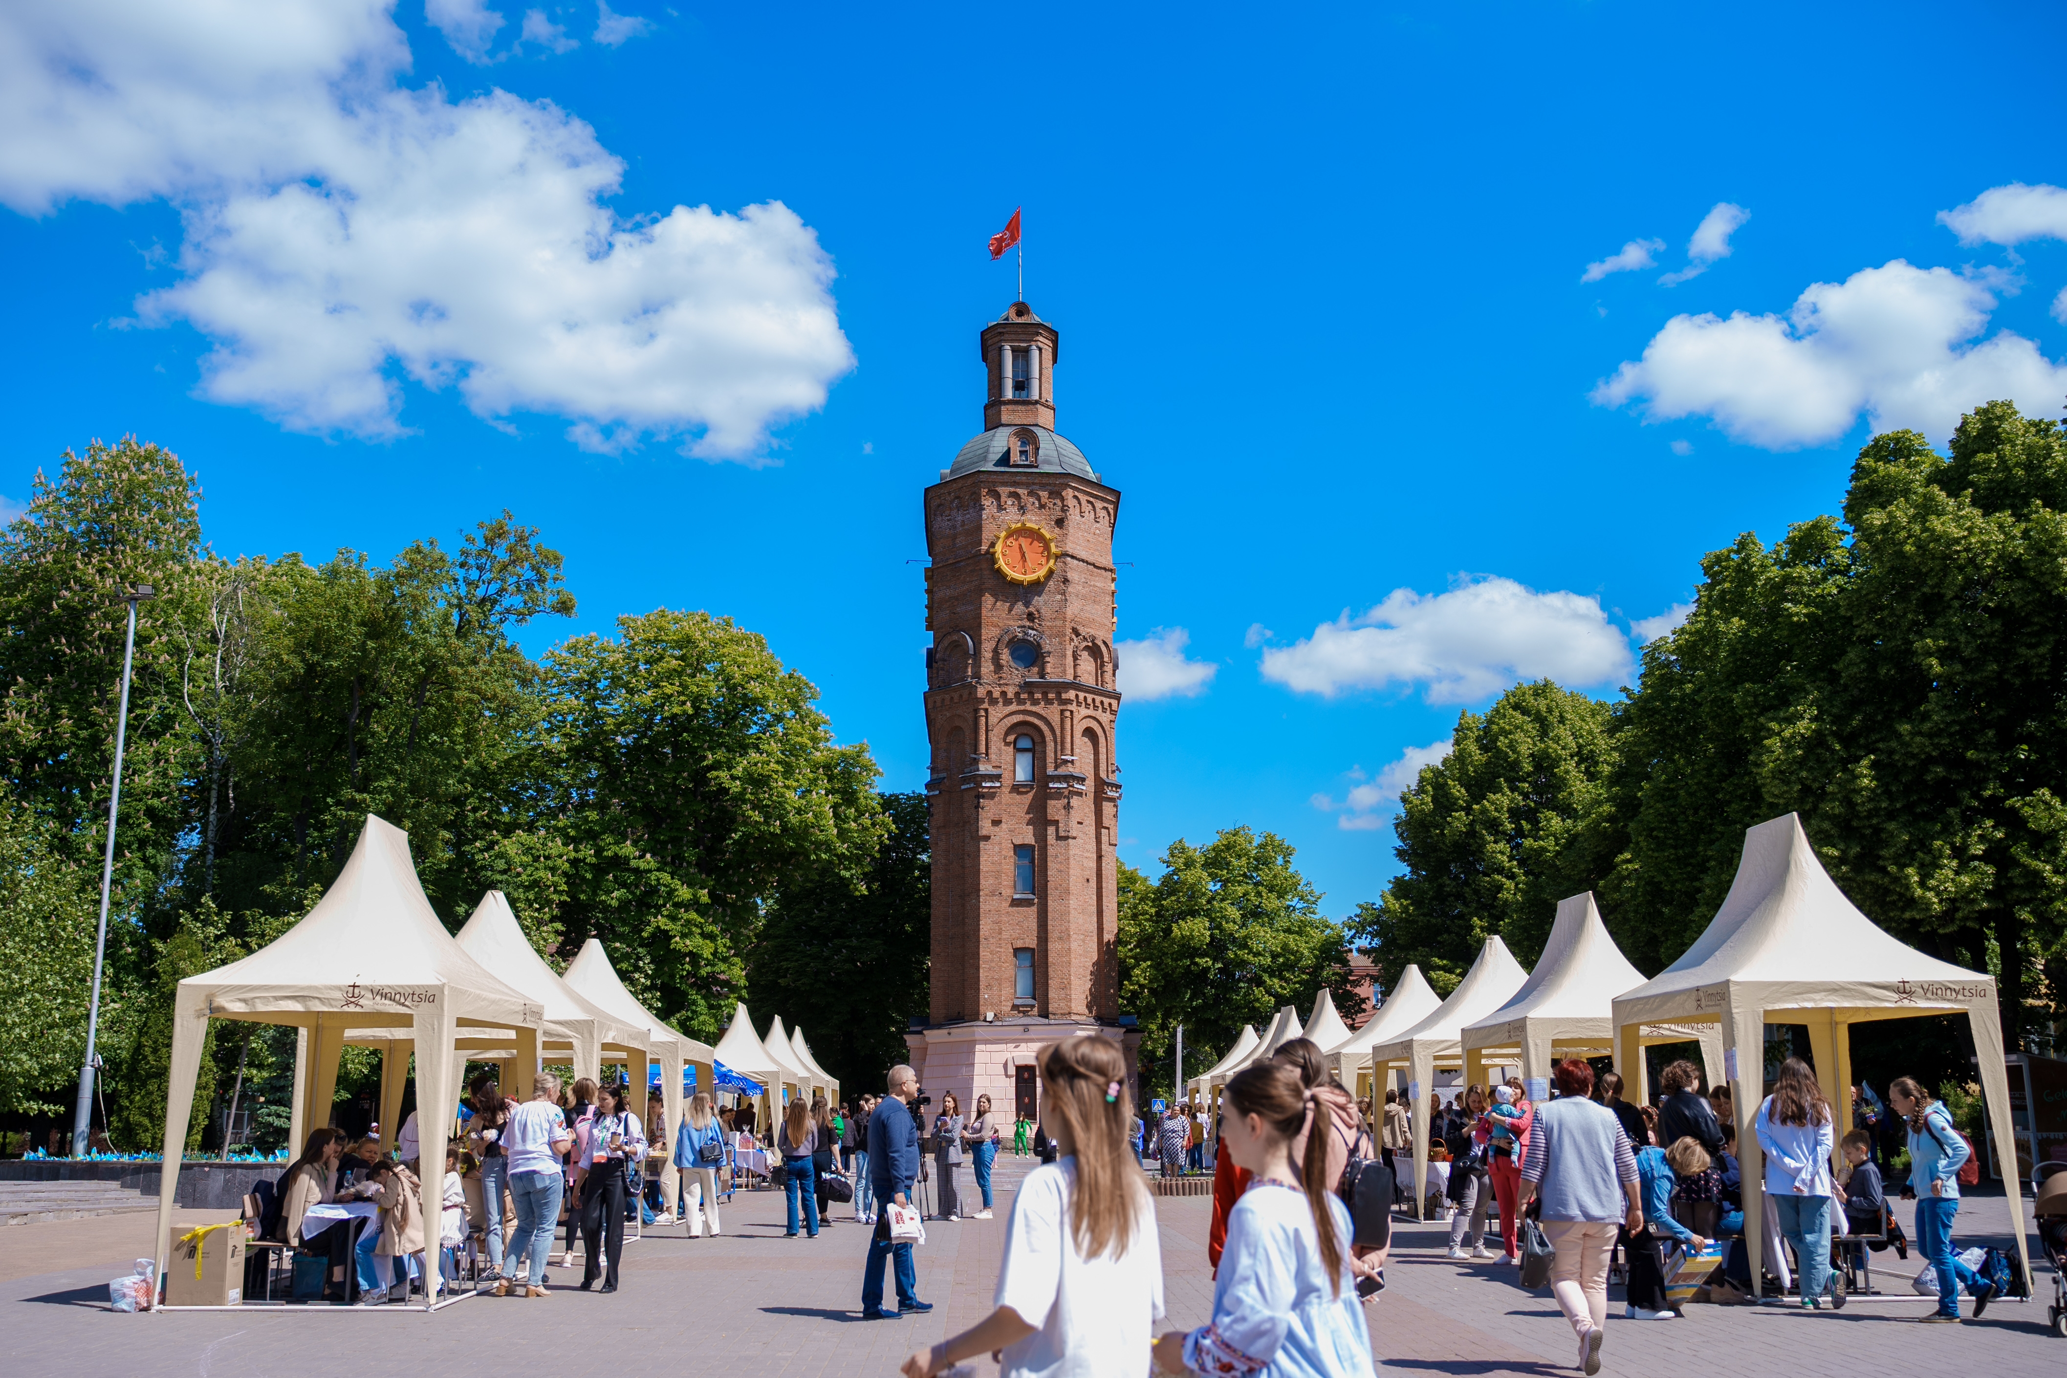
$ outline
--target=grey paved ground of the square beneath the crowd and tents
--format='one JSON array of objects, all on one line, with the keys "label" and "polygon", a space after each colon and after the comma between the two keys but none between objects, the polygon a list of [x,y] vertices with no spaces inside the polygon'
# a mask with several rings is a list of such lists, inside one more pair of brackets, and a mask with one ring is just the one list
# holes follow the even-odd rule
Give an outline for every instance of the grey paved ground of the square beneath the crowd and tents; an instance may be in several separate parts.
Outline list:
[{"label": "grey paved ground of the square beneath the crowd and tents", "polygon": [[[579,1355],[604,1343],[616,1347],[626,1372],[639,1374],[887,1376],[918,1345],[988,1314],[1011,1188],[1025,1167],[1023,1159],[998,1161],[998,1219],[928,1225],[920,1295],[936,1310],[881,1322],[858,1314],[866,1227],[835,1219],[819,1240],[785,1240],[777,1192],[736,1196],[719,1240],[684,1240],[680,1229],[647,1233],[626,1250],[622,1289],[612,1297],[575,1291],[579,1266],[554,1269],[554,1295],[546,1299],[484,1295],[432,1316],[401,1308],[114,1314],[105,1310],[105,1283],[149,1248],[153,1217],[17,1225],[0,1233],[0,1372],[300,1378],[339,1370],[477,1372],[484,1364],[508,1372],[511,1361],[523,1361],[523,1345],[537,1345],[531,1353],[550,1372],[579,1372]],[[1209,1202],[1186,1196],[1158,1207],[1168,1326],[1193,1326],[1207,1318],[1213,1297],[1205,1266]],[[182,1227],[203,1219],[219,1217],[182,1213]],[[1988,1242],[1986,1227],[2007,1227],[2005,1200],[1970,1200],[1962,1225],[1962,1242]],[[1571,1330],[1548,1295],[1521,1291],[1503,1264],[1449,1262],[1445,1244],[1443,1227],[1399,1225],[1391,1285],[1366,1308],[1379,1372],[1573,1372]],[[1914,1256],[1908,1269],[1893,1254],[1881,1258],[1889,1289],[1906,1291]],[[2053,1287],[2044,1264],[2036,1281],[2038,1302],[1997,1304],[1982,1322],[1962,1326],[1908,1324],[1929,1308],[1920,1297],[1860,1299],[1840,1314],[1697,1306],[1672,1322],[1614,1318],[1602,1372],[2059,1372],[2067,1341],[2044,1326]],[[971,1372],[982,1378],[988,1359]]]}]

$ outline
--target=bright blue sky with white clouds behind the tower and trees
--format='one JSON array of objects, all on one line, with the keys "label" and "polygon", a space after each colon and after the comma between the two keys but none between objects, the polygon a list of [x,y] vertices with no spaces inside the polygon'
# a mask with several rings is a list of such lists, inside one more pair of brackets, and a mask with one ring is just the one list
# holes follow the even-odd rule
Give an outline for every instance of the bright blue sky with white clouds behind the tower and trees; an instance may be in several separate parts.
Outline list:
[{"label": "bright blue sky with white clouds behind the tower and trees", "polygon": [[[432,23],[436,21],[436,23]],[[1329,913],[1515,676],[1610,694],[1883,426],[2067,395],[2053,6],[0,14],[0,494],[93,436],[225,554],[508,506],[575,628],[707,607],[924,779],[920,490],[1025,207],[1124,494],[1122,857],[1248,822]],[[2057,300],[2061,297],[2061,300]]]}]

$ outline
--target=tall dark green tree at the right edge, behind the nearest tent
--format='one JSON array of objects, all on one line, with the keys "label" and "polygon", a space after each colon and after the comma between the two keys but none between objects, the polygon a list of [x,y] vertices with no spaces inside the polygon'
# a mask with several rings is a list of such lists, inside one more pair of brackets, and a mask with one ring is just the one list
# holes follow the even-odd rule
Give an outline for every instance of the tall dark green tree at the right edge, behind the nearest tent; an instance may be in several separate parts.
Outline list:
[{"label": "tall dark green tree at the right edge, behind the nearest tent", "polygon": [[2015,1047],[2067,936],[2067,442],[1999,401],[1949,448],[1860,450],[1831,674],[1765,773],[1867,913],[1997,973]]}]

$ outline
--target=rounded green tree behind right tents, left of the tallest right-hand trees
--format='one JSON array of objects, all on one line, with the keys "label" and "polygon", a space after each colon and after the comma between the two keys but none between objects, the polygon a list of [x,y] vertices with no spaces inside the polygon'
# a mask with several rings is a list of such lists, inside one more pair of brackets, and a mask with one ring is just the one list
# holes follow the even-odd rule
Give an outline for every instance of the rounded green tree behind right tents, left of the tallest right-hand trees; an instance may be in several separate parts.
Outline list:
[{"label": "rounded green tree behind right tents, left of the tallest right-hand trees", "polygon": [[1422,766],[1393,824],[1406,872],[1360,905],[1358,946],[1399,971],[1420,963],[1449,994],[1499,934],[1523,967],[1550,936],[1556,903],[1594,886],[1614,855],[1610,704],[1548,680],[1517,684],[1463,713],[1449,754]]}]

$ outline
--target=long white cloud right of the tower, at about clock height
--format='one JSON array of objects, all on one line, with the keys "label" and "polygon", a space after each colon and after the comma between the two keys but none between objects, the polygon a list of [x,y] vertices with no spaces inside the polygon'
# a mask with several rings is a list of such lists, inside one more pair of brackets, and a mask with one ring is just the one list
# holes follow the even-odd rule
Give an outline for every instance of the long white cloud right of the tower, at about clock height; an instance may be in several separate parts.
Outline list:
[{"label": "long white cloud right of the tower, at about clock height", "polygon": [[1302,694],[1420,684],[1428,702],[1490,698],[1517,680],[1606,684],[1629,665],[1629,640],[1600,599],[1536,593],[1513,578],[1434,595],[1393,589],[1360,618],[1344,612],[1306,640],[1263,653],[1263,678]]}]

